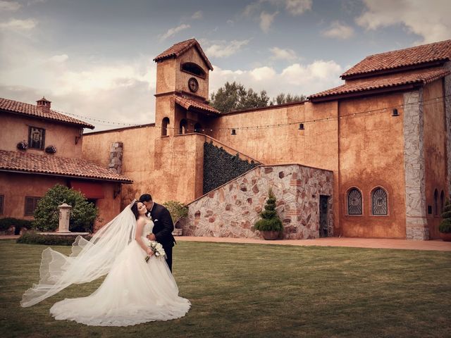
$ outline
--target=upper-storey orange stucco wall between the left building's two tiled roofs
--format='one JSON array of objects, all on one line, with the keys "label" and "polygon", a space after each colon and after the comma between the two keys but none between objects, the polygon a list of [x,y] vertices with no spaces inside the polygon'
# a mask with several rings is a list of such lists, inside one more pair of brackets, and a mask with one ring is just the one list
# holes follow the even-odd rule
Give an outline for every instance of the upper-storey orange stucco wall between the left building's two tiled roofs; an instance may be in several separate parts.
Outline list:
[{"label": "upper-storey orange stucco wall between the left building's two tiled roofs", "polygon": [[[80,136],[80,127],[64,125],[23,115],[0,113],[1,149],[17,151],[18,142],[28,142],[28,127],[45,129],[45,146],[56,146],[56,153],[51,156],[81,157],[82,139],[75,144],[75,137]],[[27,149],[30,154],[46,154],[44,150]]]}]

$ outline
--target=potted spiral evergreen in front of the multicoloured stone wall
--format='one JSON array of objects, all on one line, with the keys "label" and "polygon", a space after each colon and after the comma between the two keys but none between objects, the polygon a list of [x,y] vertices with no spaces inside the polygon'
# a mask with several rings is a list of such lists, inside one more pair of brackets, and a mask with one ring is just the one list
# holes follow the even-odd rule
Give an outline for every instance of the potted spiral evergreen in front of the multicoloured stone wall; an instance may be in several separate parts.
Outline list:
[{"label": "potted spiral evergreen in front of the multicoloured stone wall", "polygon": [[264,239],[277,239],[283,226],[282,221],[277,215],[276,196],[274,196],[272,189],[268,191],[268,199],[264,208],[265,210],[260,213],[261,220],[255,223],[254,228],[261,232]]}]

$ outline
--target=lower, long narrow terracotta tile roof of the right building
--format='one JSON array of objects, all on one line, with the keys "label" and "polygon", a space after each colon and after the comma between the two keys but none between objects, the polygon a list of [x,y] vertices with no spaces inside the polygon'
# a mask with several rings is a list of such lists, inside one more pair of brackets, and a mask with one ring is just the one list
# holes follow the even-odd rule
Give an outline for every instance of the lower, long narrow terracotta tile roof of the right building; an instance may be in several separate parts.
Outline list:
[{"label": "lower, long narrow terracotta tile roof of the right building", "polygon": [[383,77],[371,77],[369,79],[353,80],[340,87],[325,90],[317,94],[313,94],[308,99],[316,99],[319,97],[350,94],[354,92],[364,92],[371,89],[381,89],[387,87],[396,87],[402,84],[426,84],[434,80],[440,79],[450,74],[450,70],[443,68],[435,70],[423,70],[410,74],[393,74]]}]

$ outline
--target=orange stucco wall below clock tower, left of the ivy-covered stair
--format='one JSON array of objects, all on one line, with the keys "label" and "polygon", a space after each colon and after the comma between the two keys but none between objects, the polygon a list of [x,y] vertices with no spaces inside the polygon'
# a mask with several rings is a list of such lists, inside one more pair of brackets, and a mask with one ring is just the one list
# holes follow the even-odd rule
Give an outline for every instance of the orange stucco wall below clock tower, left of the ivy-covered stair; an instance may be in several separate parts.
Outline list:
[{"label": "orange stucco wall below clock tower, left of the ivy-covered stair", "polygon": [[161,137],[155,127],[85,134],[83,157],[108,166],[110,146],[123,142],[123,172],[133,184],[123,184],[123,206],[149,193],[163,203],[187,203],[202,195],[204,137],[186,134]]}]

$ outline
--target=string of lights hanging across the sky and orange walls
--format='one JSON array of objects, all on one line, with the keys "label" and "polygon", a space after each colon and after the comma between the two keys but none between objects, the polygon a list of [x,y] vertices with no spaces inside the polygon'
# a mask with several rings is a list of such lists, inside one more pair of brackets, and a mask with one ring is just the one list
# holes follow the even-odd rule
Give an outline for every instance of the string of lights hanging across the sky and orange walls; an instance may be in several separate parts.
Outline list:
[{"label": "string of lights hanging across the sky and orange walls", "polygon": [[[302,124],[309,124],[309,123],[317,123],[317,122],[322,122],[322,121],[327,121],[327,120],[335,120],[340,118],[340,120],[342,120],[342,118],[356,118],[360,115],[373,115],[376,113],[384,113],[386,111],[393,111],[393,109],[395,108],[404,108],[406,106],[412,106],[415,104],[419,104],[422,103],[423,106],[427,106],[428,104],[437,104],[437,103],[441,103],[445,100],[448,100],[451,97],[451,95],[445,95],[445,96],[438,96],[438,97],[434,97],[432,99],[427,99],[427,100],[421,100],[421,101],[413,101],[413,102],[409,102],[407,104],[399,104],[396,106],[386,106],[383,108],[375,108],[375,109],[371,109],[371,110],[366,110],[366,111],[359,111],[359,112],[354,112],[354,113],[348,113],[345,115],[340,115],[339,117],[327,117],[327,118],[320,118],[320,119],[312,119],[312,120],[300,120],[300,121],[296,121],[296,122],[292,122],[292,123],[278,123],[278,124],[274,124],[274,125],[254,125],[254,126],[247,126],[247,127],[223,127],[223,128],[218,128],[218,129],[208,129],[210,132],[214,132],[214,131],[221,131],[221,130],[226,130],[226,131],[230,131],[230,130],[256,130],[256,129],[268,129],[268,128],[273,128],[273,127],[286,127],[286,126],[290,126],[290,125],[299,125],[300,123]],[[443,100],[441,100],[443,99]],[[277,108],[277,106],[268,106],[268,109],[271,108]],[[94,121],[100,125],[111,125],[111,126],[124,126],[124,127],[142,127],[143,123],[139,123],[139,124],[132,124],[132,123],[121,123],[121,122],[116,122],[116,121],[110,121],[110,120],[103,120],[103,119],[99,119],[99,118],[90,118],[88,116],[82,116],[82,115],[78,115],[78,114],[74,114],[74,113],[65,113],[63,111],[58,111],[56,109],[52,109],[53,111],[56,111],[57,113],[61,113],[64,115],[70,115],[70,116],[75,116],[77,118],[80,118],[82,120],[89,120],[89,121]],[[152,124],[152,123],[149,123]],[[154,127],[156,128],[161,128],[161,126],[159,125],[154,125]],[[166,130],[169,129],[179,129],[178,127],[168,127],[166,126]],[[204,129],[202,129],[202,131],[205,131]]]}]

